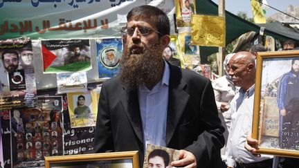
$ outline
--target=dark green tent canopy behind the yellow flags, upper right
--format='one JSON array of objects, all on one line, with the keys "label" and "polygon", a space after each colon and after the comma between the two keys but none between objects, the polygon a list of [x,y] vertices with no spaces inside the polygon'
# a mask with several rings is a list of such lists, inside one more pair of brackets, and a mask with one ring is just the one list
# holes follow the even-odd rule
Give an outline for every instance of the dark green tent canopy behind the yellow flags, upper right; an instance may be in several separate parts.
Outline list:
[{"label": "dark green tent canopy behind the yellow flags, upper right", "polygon": [[[216,15],[218,16],[218,6],[211,0],[197,0],[196,10],[199,15]],[[292,30],[291,28],[285,28],[281,23],[271,23],[271,24],[260,24],[256,25],[249,21],[246,21],[232,13],[226,11],[226,45],[230,44],[240,35],[245,32],[254,31],[260,33],[260,28],[265,27],[264,34],[270,35],[274,38],[286,40],[293,39],[294,41],[299,41],[299,33]],[[217,47],[200,47],[201,62],[207,63],[208,55],[212,53],[217,53]]]}]

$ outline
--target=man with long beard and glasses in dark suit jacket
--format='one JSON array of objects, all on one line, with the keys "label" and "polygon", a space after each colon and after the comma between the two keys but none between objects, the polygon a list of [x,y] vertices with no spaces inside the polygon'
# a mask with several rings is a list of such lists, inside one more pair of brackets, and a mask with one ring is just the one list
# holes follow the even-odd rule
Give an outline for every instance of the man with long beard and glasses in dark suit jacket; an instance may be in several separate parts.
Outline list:
[{"label": "man with long beard and glasses in dark suit jacket", "polygon": [[224,128],[210,80],[163,60],[170,21],[154,6],[138,6],[123,28],[121,70],[102,84],[95,151],[139,151],[147,144],[180,150],[172,167],[221,167]]}]

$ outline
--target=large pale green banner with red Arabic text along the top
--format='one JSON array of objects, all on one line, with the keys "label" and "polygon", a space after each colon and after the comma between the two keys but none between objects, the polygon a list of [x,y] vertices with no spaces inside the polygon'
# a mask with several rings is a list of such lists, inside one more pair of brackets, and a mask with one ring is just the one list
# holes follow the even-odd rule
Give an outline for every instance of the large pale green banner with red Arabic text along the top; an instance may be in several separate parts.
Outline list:
[{"label": "large pale green banner with red Arabic text along the top", "polygon": [[166,0],[0,1],[0,39],[120,36],[127,12],[145,4],[158,6],[167,13],[174,8],[174,1]]}]

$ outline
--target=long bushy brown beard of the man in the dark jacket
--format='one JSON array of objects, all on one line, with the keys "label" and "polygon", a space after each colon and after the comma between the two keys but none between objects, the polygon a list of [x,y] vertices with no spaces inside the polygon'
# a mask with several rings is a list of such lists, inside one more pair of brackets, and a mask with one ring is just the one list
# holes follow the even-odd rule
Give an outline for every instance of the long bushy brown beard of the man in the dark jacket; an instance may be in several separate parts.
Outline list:
[{"label": "long bushy brown beard of the man in the dark jacket", "polygon": [[158,44],[140,44],[138,47],[142,52],[133,54],[132,46],[125,46],[123,57],[120,59],[120,81],[132,89],[141,84],[156,84],[163,73],[163,48]]}]

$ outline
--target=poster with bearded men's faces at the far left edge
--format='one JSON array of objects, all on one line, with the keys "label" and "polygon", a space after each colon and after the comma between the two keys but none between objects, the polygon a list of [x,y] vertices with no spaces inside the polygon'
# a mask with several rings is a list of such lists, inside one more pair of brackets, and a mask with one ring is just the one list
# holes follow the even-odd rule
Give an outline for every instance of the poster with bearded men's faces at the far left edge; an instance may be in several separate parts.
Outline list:
[{"label": "poster with bearded men's faces at the far left edge", "polygon": [[36,95],[30,39],[0,40],[0,110],[33,107]]}]

